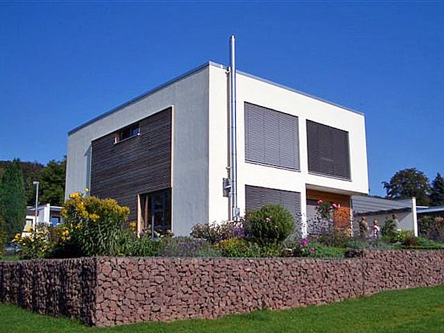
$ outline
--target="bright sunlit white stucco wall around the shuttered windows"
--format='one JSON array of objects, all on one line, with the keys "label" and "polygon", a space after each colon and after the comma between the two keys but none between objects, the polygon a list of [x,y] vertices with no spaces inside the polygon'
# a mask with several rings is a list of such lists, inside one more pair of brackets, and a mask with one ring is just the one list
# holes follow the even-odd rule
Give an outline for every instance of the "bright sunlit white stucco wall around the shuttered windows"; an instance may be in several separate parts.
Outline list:
[{"label": "bright sunlit white stucco wall around the shuttered windows", "polygon": [[[245,162],[244,102],[254,103],[298,117],[300,171],[289,171]],[[210,67],[210,220],[228,219],[228,200],[222,198],[222,178],[228,165],[227,76],[225,69]],[[225,115],[225,119],[223,117]],[[324,123],[349,133],[351,180],[316,176],[308,172],[306,120]],[[362,114],[305,96],[284,87],[237,74],[238,201],[245,212],[245,185],[298,191],[302,216],[306,214],[306,188],[343,194],[368,193],[366,129]]]}]

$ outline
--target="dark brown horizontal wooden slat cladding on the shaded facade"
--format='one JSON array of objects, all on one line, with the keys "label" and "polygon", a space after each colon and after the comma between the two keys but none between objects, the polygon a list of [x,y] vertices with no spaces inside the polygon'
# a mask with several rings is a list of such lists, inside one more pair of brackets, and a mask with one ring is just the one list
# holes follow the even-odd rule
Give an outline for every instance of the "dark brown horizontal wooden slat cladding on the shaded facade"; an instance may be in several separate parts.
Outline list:
[{"label": "dark brown horizontal wooden slat cladding on the shaded facade", "polygon": [[91,194],[130,207],[137,195],[171,187],[171,117],[168,108],[139,121],[140,135],[114,144],[114,133],[92,142]]}]

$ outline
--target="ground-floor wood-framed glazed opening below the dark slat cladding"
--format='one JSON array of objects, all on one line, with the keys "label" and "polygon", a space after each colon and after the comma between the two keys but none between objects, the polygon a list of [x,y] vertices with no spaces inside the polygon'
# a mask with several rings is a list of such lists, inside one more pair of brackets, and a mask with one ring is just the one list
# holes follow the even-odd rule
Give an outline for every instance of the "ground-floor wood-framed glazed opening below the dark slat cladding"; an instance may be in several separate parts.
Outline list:
[{"label": "ground-floor wood-framed glazed opening below the dark slat cladding", "polygon": [[159,234],[171,231],[171,189],[141,194],[139,208],[144,232],[151,232],[153,224]]}]

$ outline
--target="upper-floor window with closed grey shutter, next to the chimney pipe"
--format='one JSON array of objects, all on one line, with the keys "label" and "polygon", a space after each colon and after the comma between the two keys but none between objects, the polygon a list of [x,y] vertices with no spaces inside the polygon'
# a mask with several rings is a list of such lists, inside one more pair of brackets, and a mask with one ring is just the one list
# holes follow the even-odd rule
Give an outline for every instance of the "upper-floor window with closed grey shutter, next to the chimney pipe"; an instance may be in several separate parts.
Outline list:
[{"label": "upper-floor window with closed grey shutter, next to the chimney pipe", "polygon": [[299,170],[298,117],[244,103],[247,162]]}]

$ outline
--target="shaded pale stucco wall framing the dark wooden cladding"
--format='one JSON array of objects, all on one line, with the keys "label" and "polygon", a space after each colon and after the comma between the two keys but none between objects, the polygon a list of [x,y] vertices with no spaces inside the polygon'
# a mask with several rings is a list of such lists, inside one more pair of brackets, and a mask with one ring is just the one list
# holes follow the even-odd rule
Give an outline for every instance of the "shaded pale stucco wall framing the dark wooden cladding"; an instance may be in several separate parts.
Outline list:
[{"label": "shaded pale stucco wall framing the dark wooden cladding", "polygon": [[[208,69],[204,67],[68,137],[66,195],[89,187],[94,139],[173,106],[172,231],[208,220]],[[135,198],[135,200],[137,200]]]}]

